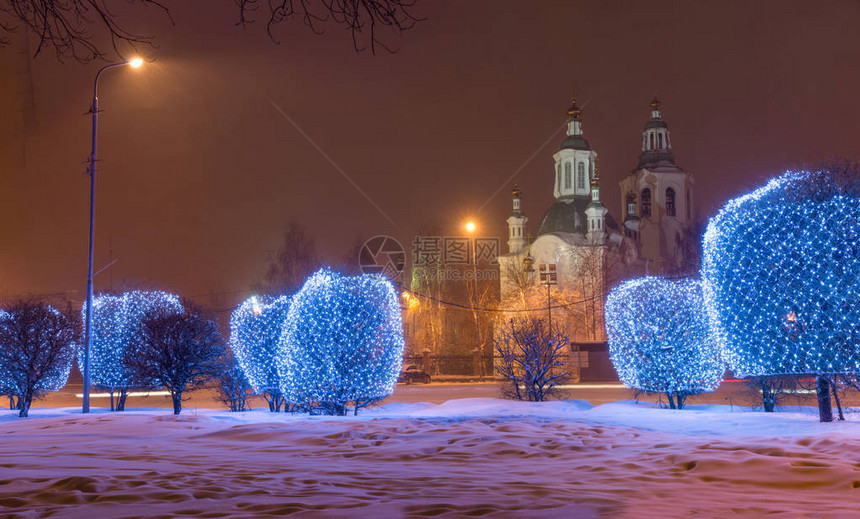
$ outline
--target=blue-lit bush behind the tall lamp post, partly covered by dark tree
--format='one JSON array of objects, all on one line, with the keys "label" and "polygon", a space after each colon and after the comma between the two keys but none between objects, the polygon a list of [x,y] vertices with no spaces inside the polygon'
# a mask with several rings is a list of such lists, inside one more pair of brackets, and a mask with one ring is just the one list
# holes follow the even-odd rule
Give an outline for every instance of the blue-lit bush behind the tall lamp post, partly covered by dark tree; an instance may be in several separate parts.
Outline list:
[{"label": "blue-lit bush behind the tall lamp post, partly covered by dark tree", "polygon": [[[141,322],[147,314],[162,309],[181,313],[182,304],[177,296],[159,291],[131,291],[93,299],[90,379],[94,385],[111,392],[111,409],[123,410],[126,393],[134,386],[133,373],[126,361],[140,341]],[[81,315],[86,319],[86,303]],[[81,344],[78,350],[81,373],[84,371],[83,346]],[[114,392],[119,392],[116,407]]]}]

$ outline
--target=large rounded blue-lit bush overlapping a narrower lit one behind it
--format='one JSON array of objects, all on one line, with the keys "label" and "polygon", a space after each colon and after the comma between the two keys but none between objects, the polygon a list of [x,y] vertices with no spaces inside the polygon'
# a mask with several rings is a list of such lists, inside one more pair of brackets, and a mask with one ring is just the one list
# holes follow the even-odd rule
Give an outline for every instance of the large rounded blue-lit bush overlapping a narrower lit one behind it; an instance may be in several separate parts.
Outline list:
[{"label": "large rounded blue-lit bush overlapping a narrower lit one behind it", "polygon": [[293,298],[278,371],[291,402],[312,412],[355,411],[394,391],[403,357],[400,305],[382,276],[320,270]]}]

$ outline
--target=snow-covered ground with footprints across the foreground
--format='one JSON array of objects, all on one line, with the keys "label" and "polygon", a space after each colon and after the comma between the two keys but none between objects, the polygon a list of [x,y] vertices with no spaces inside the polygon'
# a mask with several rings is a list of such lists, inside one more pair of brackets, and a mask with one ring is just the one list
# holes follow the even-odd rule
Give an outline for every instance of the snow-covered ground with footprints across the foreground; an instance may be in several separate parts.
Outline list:
[{"label": "snow-covered ground with footprints across the foreground", "polygon": [[3,517],[860,517],[860,412],[492,398],[0,414]]}]

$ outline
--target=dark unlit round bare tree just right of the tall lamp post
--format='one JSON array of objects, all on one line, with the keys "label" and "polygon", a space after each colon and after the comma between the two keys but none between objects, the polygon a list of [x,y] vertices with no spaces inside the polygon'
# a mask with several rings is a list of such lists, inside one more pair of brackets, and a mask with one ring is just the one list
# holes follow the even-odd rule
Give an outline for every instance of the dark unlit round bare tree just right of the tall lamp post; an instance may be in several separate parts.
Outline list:
[{"label": "dark unlit round bare tree just right of the tall lamp post", "polygon": [[152,312],[141,326],[129,365],[141,385],[170,392],[173,414],[182,412],[186,391],[203,387],[221,372],[226,353],[218,322],[199,306],[183,301],[185,312]]}]

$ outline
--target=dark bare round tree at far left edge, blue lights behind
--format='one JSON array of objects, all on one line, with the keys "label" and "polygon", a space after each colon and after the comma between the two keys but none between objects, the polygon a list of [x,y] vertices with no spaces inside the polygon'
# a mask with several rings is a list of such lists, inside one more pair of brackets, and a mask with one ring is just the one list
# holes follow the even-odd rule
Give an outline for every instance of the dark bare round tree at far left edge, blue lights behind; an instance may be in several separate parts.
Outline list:
[{"label": "dark bare round tree at far left edge, blue lights behind", "polygon": [[77,314],[70,309],[19,301],[0,311],[0,377],[18,397],[18,416],[29,414],[33,398],[66,385],[77,338]]}]

